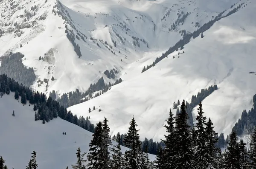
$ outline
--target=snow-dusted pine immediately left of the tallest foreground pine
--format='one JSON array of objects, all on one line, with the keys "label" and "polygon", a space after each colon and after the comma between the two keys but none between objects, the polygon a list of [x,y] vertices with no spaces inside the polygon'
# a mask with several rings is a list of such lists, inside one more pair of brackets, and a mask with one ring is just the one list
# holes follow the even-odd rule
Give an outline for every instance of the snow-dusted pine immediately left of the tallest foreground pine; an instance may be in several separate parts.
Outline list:
[{"label": "snow-dusted pine immediately left of the tallest foreground pine", "polygon": [[169,118],[166,120],[167,124],[164,125],[168,135],[164,135],[166,147],[164,149],[163,159],[164,168],[173,168],[174,167],[174,147],[175,147],[175,117],[173,117],[172,110],[170,109]]}]

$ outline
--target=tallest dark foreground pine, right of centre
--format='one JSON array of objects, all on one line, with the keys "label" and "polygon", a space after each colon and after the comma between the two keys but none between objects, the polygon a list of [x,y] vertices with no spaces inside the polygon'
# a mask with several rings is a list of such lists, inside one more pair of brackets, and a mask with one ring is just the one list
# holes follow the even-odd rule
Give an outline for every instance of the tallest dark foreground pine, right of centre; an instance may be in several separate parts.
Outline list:
[{"label": "tallest dark foreground pine, right of centre", "polygon": [[177,169],[194,169],[192,166],[193,150],[187,120],[188,114],[185,110],[185,100],[183,100],[180,106],[180,113],[177,114],[175,127],[176,141],[174,150],[174,168]]}]

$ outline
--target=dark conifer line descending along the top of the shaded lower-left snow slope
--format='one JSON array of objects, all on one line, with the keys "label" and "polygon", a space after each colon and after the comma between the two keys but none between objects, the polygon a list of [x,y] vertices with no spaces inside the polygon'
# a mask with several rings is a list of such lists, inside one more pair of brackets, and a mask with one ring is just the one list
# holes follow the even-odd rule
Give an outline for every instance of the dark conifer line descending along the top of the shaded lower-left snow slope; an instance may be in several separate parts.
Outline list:
[{"label": "dark conifer line descending along the top of the shaded lower-left snow slope", "polygon": [[[73,115],[71,111],[67,109],[58,101],[53,100],[51,97],[47,99],[44,93],[39,93],[38,91],[32,91],[30,88],[19,85],[14,79],[7,77],[6,74],[0,75],[0,93],[9,94],[10,92],[15,92],[15,99],[19,98],[22,104],[33,104],[33,110],[35,111],[35,121],[41,120],[43,124],[49,122],[53,118],[60,117],[70,123],[76,124],[85,130],[94,132],[94,125],[90,123],[88,117],[83,116],[77,117]],[[2,98],[2,96],[1,96]],[[18,100],[19,101],[19,100]]]}]

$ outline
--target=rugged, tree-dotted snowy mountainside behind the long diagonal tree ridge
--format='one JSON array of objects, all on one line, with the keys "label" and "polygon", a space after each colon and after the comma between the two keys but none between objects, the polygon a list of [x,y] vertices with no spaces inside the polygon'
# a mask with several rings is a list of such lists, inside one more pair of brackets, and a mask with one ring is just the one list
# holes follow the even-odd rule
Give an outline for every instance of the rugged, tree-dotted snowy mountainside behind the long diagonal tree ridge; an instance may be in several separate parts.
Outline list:
[{"label": "rugged, tree-dotted snowy mountainside behind the long diagonal tree ridge", "polygon": [[113,82],[105,70],[121,71],[166,50],[238,1],[2,0],[0,56],[25,54],[23,63],[37,75],[36,90],[84,91],[101,76]]}]

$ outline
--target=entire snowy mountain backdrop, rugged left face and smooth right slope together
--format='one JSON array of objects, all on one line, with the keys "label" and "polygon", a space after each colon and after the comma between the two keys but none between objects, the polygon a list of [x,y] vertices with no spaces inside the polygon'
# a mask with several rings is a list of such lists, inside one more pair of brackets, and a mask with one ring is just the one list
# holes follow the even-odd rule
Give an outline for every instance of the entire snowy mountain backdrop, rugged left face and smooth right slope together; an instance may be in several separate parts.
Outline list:
[{"label": "entire snowy mountain backdrop, rugged left face and smooth right slope together", "polygon": [[[141,73],[186,34],[238,7],[204,38],[191,38]],[[256,93],[255,7],[253,0],[2,0],[0,56],[24,54],[23,64],[35,70],[32,87],[45,93],[85,91],[102,76],[106,83],[121,77],[107,93],[69,109],[95,123],[106,116],[113,133],[125,133],[134,115],[141,138],[154,140],[163,138],[174,101],[190,102],[218,85],[203,107],[226,135]],[[113,68],[116,77],[105,76]],[[88,113],[93,106],[102,112]]]}]

